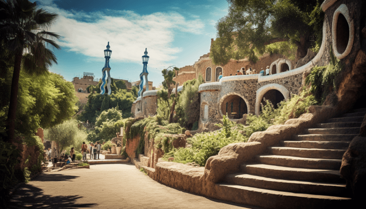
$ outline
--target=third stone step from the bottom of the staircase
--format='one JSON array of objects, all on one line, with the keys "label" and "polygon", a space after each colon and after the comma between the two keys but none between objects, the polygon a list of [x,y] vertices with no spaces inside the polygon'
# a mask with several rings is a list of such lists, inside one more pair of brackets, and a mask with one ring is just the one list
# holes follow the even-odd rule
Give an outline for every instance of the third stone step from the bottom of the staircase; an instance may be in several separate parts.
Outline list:
[{"label": "third stone step from the bottom of the staircase", "polygon": [[242,164],[240,171],[255,176],[286,180],[345,183],[339,170],[292,168],[267,164]]}]

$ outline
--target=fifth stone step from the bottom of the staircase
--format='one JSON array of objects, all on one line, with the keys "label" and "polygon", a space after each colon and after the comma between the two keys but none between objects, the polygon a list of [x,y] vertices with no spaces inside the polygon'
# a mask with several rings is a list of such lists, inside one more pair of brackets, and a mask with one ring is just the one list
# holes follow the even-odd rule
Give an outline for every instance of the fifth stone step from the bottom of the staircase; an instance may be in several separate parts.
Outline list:
[{"label": "fifth stone step from the bottom of the staircase", "polygon": [[340,160],[346,150],[343,149],[307,149],[294,147],[268,147],[269,154],[300,158]]}]

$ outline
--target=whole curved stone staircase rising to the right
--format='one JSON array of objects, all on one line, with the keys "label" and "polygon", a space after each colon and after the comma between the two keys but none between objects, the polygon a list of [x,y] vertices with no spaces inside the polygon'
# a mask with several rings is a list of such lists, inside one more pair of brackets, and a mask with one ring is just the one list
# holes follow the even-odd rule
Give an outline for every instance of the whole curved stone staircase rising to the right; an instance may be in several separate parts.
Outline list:
[{"label": "whole curved stone staircase rising to the right", "polygon": [[222,199],[263,208],[340,208],[352,203],[340,177],[342,156],[360,132],[366,108],[307,129],[242,164],[216,184]]}]

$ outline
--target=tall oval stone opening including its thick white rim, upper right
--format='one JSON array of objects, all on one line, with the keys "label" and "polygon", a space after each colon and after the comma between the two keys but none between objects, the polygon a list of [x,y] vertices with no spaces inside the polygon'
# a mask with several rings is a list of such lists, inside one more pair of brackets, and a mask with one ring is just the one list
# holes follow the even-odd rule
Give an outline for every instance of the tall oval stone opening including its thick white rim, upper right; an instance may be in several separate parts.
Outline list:
[{"label": "tall oval stone opening including its thick white rim, upper right", "polygon": [[343,59],[351,52],[355,27],[349,17],[348,7],[341,4],[333,14],[332,42],[333,53],[338,59]]}]

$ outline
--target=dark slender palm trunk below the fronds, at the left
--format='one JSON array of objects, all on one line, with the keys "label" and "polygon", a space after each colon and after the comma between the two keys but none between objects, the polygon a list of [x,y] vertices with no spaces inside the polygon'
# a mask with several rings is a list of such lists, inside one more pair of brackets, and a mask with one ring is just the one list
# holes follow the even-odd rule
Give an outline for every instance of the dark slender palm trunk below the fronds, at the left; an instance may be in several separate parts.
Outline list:
[{"label": "dark slender palm trunk below the fronds, at the left", "polygon": [[8,128],[6,130],[6,134],[8,135],[7,136],[8,142],[13,142],[15,134],[15,120],[16,120],[16,110],[18,102],[18,86],[19,86],[20,69],[22,64],[22,56],[23,56],[23,47],[21,50],[17,50],[15,54],[14,71],[10,90],[10,104],[7,118]]}]

